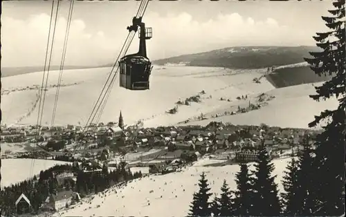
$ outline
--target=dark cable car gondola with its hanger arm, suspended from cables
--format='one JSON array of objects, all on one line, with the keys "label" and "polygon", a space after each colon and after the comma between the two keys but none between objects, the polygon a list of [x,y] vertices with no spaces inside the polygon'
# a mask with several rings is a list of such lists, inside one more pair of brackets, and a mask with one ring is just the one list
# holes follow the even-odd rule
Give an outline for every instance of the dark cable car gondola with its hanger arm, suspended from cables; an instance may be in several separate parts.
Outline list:
[{"label": "dark cable car gondola with its hanger arm, suspended from cables", "polygon": [[138,53],[126,55],[119,61],[120,66],[120,86],[129,90],[149,90],[149,77],[152,71],[152,63],[147,57],[145,40],[152,38],[152,28],[145,28],[142,17],[132,19],[132,26],[127,30],[138,32],[139,50]]}]

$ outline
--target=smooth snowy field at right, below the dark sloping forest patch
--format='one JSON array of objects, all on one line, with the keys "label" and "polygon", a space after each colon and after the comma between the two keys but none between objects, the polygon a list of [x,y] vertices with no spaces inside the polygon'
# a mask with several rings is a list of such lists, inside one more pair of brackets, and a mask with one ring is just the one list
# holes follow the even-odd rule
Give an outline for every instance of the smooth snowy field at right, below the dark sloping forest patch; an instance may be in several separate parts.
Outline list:
[{"label": "smooth snowy field at right, below the dark sloping forest patch", "polygon": [[[217,121],[232,124],[260,125],[265,123],[269,126],[308,128],[309,122],[314,120],[314,115],[319,115],[325,109],[336,109],[338,106],[336,99],[316,102],[309,97],[309,95],[316,93],[313,86],[320,86],[320,84],[322,83],[273,89],[266,93],[275,96],[275,98],[260,110],[189,122],[183,125],[206,125],[211,121]],[[212,113],[223,113],[224,111],[225,109],[219,109]]]}]

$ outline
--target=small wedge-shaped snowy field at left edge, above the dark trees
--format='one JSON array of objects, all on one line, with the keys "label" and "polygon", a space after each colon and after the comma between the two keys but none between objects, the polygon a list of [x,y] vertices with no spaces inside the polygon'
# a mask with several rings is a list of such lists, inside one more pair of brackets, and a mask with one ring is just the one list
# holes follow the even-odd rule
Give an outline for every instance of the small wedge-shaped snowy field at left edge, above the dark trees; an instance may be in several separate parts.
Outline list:
[{"label": "small wedge-shaped snowy field at left edge, above the dark trees", "polygon": [[[33,162],[34,161],[34,162]],[[33,169],[31,172],[31,164]],[[41,159],[2,159],[1,160],[1,188],[9,187],[17,182],[24,181],[35,175],[39,175],[42,170],[54,167],[57,164],[71,164],[69,162],[57,160]]]}]

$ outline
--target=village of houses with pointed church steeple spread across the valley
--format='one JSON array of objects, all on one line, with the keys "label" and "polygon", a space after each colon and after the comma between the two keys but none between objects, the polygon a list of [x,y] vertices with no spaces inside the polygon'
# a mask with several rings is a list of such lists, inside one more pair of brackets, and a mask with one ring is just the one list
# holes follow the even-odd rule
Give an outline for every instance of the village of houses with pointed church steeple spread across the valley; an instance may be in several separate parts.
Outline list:
[{"label": "village of houses with pointed church steeple spread across the valley", "polygon": [[[6,150],[1,158],[71,162],[70,166],[55,166],[48,172],[42,171],[38,180],[35,176],[28,181],[35,186],[47,176],[47,183],[56,182],[54,187],[49,187],[52,194],[35,208],[36,211],[56,211],[82,202],[81,199],[88,192],[100,191],[116,184],[124,185],[125,182],[120,180],[176,173],[201,158],[215,160],[214,163],[206,164],[206,167],[255,162],[259,148],[263,145],[272,159],[290,158],[304,149],[304,139],[307,136],[313,142],[316,135],[317,131],[307,129],[282,129],[266,124],[235,126],[221,122],[210,122],[207,126],[159,126],[142,129],[136,125],[126,126],[120,111],[118,122],[90,124],[84,131],[82,126],[73,125],[4,127],[1,131],[3,147],[22,145],[25,148],[18,152]],[[100,184],[78,187],[81,173],[107,179],[107,176],[111,176],[109,174],[119,171],[125,174],[120,180],[111,179],[112,183],[107,181],[107,185],[102,187],[95,187]],[[48,175],[43,175],[44,173]],[[27,192],[33,197],[30,188]],[[15,202],[17,209],[19,202],[24,207],[31,206],[32,203],[26,194],[20,194],[19,198],[14,199],[16,201],[12,202]],[[21,207],[17,211],[20,213],[24,210],[25,213],[29,207]]]}]

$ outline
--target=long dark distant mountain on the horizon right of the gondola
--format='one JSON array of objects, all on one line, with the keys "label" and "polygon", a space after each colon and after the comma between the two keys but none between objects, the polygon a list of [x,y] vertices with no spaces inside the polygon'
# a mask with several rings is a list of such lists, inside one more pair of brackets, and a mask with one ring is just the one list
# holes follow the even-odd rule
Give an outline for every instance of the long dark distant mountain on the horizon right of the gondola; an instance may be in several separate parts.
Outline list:
[{"label": "long dark distant mountain on the horizon right of the gondola", "polygon": [[186,66],[215,66],[228,68],[266,68],[304,62],[313,46],[245,46],[211,50],[204,53],[181,55],[153,61],[156,65],[183,64]]}]

